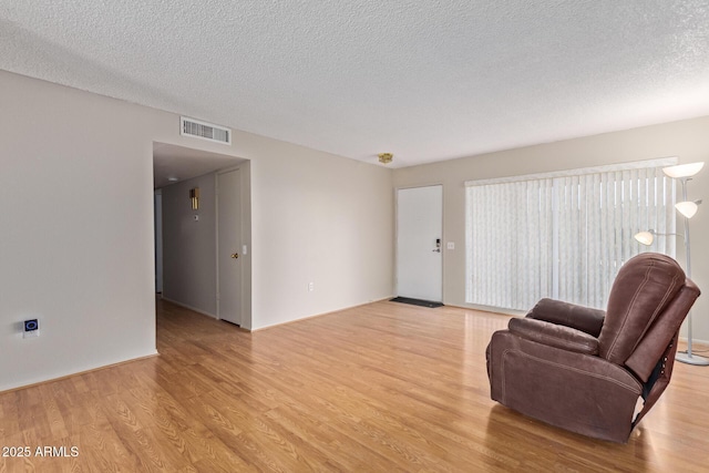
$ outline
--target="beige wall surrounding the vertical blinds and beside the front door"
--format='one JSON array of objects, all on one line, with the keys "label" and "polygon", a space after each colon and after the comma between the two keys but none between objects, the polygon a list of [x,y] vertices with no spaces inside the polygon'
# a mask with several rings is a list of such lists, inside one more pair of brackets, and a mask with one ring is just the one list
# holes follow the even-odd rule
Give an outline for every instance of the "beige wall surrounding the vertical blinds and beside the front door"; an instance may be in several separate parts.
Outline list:
[{"label": "beige wall surrounding the vertical blinds and beside the front door", "polygon": [[[443,184],[443,238],[455,243],[454,250],[444,250],[443,300],[465,306],[465,181],[667,156],[677,156],[679,163],[709,162],[709,117],[395,169],[394,186]],[[709,340],[709,163],[707,166],[689,183],[689,197],[706,202],[691,220],[692,279],[705,290],[692,311],[693,338],[705,341]],[[684,264],[684,253],[678,259]]]}]

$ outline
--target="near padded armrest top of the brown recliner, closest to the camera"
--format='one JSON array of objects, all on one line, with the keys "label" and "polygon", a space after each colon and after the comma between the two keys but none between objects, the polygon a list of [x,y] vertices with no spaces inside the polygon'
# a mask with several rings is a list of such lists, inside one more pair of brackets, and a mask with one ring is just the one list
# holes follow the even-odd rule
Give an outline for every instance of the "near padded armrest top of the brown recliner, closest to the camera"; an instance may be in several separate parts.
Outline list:
[{"label": "near padded armrest top of the brown recliner, closest to the camera", "polygon": [[548,347],[583,354],[598,354],[598,339],[584,331],[531,318],[511,319],[510,332]]}]

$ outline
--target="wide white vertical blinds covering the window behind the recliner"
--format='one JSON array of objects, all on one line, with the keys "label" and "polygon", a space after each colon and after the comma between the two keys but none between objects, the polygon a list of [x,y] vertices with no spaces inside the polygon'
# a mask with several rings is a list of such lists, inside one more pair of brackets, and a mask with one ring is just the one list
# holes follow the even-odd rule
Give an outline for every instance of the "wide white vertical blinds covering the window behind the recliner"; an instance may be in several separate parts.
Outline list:
[{"label": "wide white vertical blinds covering the window behind the recliner", "polygon": [[[543,297],[603,308],[638,232],[675,233],[674,162],[466,183],[466,301],[526,310]],[[675,237],[653,250],[675,255]]]}]

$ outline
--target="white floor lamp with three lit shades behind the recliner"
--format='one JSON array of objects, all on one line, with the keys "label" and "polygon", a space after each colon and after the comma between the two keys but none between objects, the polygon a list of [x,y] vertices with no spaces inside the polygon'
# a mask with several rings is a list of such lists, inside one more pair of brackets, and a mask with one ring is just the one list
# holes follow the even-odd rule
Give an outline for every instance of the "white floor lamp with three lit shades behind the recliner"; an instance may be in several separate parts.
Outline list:
[{"label": "white floor lamp with three lit shades behind the recliner", "polygon": [[[677,212],[679,212],[685,218],[685,234],[658,234],[655,230],[649,232],[640,232],[635,236],[643,245],[651,245],[655,235],[677,235],[682,236],[685,238],[685,256],[687,258],[685,274],[688,278],[691,279],[691,247],[689,246],[689,219],[695,216],[699,204],[701,200],[687,200],[687,181],[691,181],[691,177],[697,174],[703,167],[705,163],[690,163],[690,164],[679,164],[677,166],[669,166],[662,168],[662,172],[674,178],[679,179],[682,185],[682,202],[675,205]],[[677,353],[676,359],[681,361],[682,363],[697,364],[697,366],[709,366],[709,359],[705,357],[696,356],[691,352],[691,311],[687,316],[687,353]]]}]

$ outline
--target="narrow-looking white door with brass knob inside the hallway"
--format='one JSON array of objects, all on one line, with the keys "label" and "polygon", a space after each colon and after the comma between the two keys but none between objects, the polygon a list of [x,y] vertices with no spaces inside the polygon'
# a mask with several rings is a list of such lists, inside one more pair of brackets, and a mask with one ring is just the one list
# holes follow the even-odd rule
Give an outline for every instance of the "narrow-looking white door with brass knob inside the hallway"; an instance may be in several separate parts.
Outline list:
[{"label": "narrow-looking white door with brass knob inside the hallway", "polygon": [[217,174],[217,316],[242,325],[242,199],[239,169]]}]

